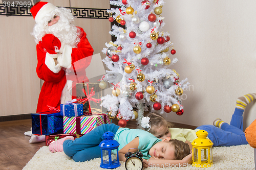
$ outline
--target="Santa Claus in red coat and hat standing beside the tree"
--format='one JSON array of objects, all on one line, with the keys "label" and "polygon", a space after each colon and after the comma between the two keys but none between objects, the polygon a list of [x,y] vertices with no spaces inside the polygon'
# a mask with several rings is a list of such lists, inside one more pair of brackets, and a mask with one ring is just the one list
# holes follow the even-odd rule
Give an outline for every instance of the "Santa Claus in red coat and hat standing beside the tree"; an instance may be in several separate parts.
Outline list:
[{"label": "Santa Claus in red coat and hat standing beside the tree", "polygon": [[31,33],[37,43],[36,72],[45,81],[36,112],[49,111],[76,98],[76,83],[88,82],[85,69],[93,48],[83,29],[72,25],[70,9],[38,2],[30,11],[36,22]]}]

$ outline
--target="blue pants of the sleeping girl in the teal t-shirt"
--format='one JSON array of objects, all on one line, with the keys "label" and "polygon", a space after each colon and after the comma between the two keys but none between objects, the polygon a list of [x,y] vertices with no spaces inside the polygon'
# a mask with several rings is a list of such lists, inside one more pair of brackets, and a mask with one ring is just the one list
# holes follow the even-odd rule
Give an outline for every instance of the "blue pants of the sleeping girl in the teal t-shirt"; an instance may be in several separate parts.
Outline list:
[{"label": "blue pants of the sleeping girl in the teal t-shirt", "polygon": [[65,140],[63,142],[63,151],[71,157],[75,162],[88,161],[101,157],[99,143],[103,140],[102,135],[105,132],[113,132],[116,134],[119,126],[115,124],[103,124],[96,127],[80,138],[73,140]]}]

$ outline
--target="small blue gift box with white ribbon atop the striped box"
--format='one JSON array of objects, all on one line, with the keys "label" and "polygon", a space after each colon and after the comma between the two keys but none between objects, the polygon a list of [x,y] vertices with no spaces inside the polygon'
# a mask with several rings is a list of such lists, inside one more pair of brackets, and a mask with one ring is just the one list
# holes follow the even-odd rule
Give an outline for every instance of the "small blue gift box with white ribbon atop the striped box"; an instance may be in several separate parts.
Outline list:
[{"label": "small blue gift box with white ribbon atop the striped box", "polygon": [[60,115],[67,117],[83,115],[83,105],[78,103],[61,104]]}]

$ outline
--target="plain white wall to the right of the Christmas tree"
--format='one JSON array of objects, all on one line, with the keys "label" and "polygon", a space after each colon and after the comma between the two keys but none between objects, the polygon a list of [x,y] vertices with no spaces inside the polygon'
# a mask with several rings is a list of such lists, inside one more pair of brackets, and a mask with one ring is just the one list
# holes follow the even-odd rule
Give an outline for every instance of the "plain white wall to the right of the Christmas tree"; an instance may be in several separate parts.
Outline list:
[{"label": "plain white wall to the right of the Christmas tree", "polygon": [[[216,118],[230,122],[239,96],[256,92],[256,1],[166,0],[162,16],[188,78],[184,114],[164,114],[172,122],[200,126]],[[172,57],[172,56],[170,56]],[[255,101],[244,112],[244,127],[256,118]]]}]

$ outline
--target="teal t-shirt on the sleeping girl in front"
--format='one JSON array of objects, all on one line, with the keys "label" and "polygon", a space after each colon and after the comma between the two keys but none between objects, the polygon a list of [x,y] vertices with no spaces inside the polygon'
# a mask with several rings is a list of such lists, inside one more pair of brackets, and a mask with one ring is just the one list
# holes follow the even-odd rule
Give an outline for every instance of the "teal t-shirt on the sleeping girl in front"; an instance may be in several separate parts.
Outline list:
[{"label": "teal t-shirt on the sleeping girl in front", "polygon": [[149,159],[151,156],[148,151],[152,148],[154,144],[162,141],[149,132],[141,129],[129,129],[120,128],[115,134],[114,139],[119,142],[118,150],[121,150],[127,143],[131,142],[136,137],[139,137],[139,150],[143,154],[144,159]]}]

